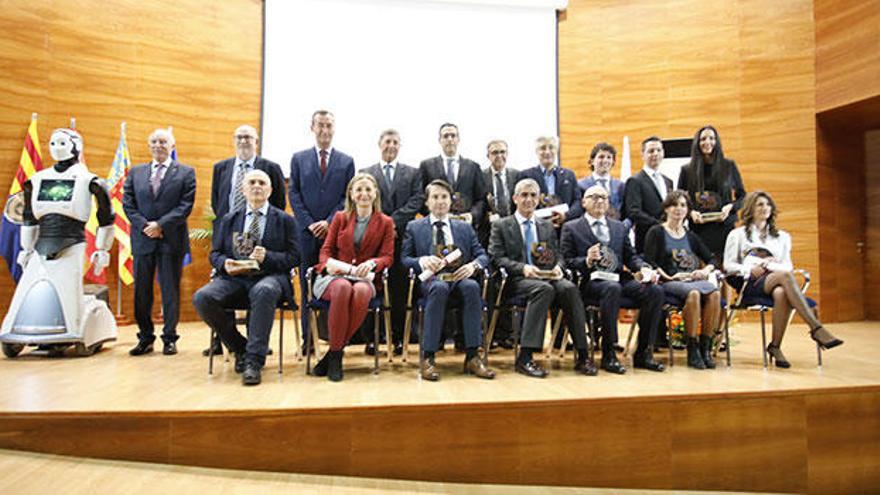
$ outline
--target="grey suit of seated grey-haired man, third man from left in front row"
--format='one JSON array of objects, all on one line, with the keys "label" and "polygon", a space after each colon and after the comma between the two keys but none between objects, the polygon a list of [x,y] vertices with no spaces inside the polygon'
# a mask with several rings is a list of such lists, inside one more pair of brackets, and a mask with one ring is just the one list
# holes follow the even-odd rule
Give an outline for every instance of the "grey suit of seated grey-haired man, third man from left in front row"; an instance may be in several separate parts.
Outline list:
[{"label": "grey suit of seated grey-haired man, third man from left in front row", "polygon": [[[535,226],[538,242],[546,242],[550,250],[556,253],[557,264],[561,265],[562,254],[553,224],[548,220],[538,219]],[[489,255],[496,267],[504,268],[510,275],[507,283],[512,294],[515,297],[525,297],[528,301],[521,339],[524,348],[536,350],[543,347],[547,311],[555,301],[565,313],[575,347],[581,351],[587,349],[584,306],[577,286],[565,279],[551,281],[523,276],[523,267],[526,265],[525,247],[521,227],[514,215],[492,224]]]}]

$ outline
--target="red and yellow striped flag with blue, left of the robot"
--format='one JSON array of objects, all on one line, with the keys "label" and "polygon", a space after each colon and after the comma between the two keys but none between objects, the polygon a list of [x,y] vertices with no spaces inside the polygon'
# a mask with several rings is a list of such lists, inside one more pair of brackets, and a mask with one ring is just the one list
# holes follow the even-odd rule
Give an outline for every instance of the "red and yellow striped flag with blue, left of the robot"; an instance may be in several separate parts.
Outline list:
[{"label": "red and yellow striped flag with blue, left of the robot", "polygon": [[21,213],[24,208],[24,194],[21,188],[34,172],[43,169],[43,153],[40,151],[40,138],[37,136],[37,114],[31,116],[24,147],[18,160],[18,171],[12,178],[9,197],[3,211],[3,224],[0,226],[0,254],[6,258],[6,265],[12,278],[18,283],[21,266],[16,261],[21,250]]}]

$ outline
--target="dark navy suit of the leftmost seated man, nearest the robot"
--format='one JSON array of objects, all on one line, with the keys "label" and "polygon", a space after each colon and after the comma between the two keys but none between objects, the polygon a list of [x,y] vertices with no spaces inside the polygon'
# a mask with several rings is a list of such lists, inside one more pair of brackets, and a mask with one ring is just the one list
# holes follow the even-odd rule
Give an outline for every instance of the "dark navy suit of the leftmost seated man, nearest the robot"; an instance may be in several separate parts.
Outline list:
[{"label": "dark navy suit of the leftmost seated man, nearest the robot", "polygon": [[[224,264],[234,258],[233,232],[244,232],[247,208],[228,213],[217,222],[211,250],[211,266],[217,276],[193,295],[199,316],[217,332],[232,352],[246,354],[246,359],[262,366],[269,349],[275,306],[282,299],[293,297],[290,271],[299,263],[296,242],[296,220],[284,211],[269,206],[266,225],[259,245],[266,248],[260,272],[254,275],[231,276]],[[248,338],[235,329],[228,308],[246,303],[251,314]]]}]

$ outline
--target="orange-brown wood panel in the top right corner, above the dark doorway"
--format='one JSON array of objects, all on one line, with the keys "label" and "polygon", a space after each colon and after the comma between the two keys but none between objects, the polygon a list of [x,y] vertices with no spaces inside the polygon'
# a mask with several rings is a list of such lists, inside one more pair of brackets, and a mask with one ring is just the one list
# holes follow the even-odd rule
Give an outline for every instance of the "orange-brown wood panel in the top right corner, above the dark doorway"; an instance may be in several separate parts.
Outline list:
[{"label": "orange-brown wood panel in the top right corner, above the dark doorway", "polygon": [[815,0],[815,18],[817,109],[880,95],[880,0]]}]

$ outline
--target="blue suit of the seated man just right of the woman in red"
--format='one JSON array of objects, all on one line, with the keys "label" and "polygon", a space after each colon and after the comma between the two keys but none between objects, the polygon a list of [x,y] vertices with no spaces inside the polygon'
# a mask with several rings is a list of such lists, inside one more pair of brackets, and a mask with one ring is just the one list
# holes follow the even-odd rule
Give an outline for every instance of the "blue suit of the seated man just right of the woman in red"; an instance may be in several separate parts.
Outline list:
[{"label": "blue suit of the seated man just right of the woman in red", "polygon": [[[417,274],[422,272],[419,258],[434,254],[433,228],[430,217],[413,220],[406,226],[400,260],[405,267],[412,268]],[[489,257],[477,240],[477,233],[473,227],[465,222],[452,220],[450,229],[452,239],[447,239],[447,242],[454,241],[456,247],[461,250],[462,263],[476,261],[481,267],[489,265]],[[453,291],[461,295],[465,346],[476,349],[482,344],[480,284],[473,278],[450,283],[433,277],[421,284],[421,292],[425,297],[425,330],[422,339],[425,352],[436,352],[439,347],[446,302]]]}]

